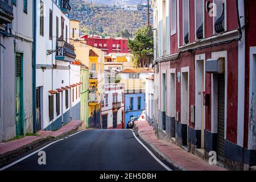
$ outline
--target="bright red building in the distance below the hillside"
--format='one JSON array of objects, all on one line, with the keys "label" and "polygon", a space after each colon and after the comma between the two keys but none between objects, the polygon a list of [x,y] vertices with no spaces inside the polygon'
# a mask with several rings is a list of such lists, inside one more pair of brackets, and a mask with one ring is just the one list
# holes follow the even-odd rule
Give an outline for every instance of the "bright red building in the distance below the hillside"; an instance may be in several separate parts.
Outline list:
[{"label": "bright red building in the distance below the hillside", "polygon": [[100,36],[84,35],[80,40],[85,40],[86,44],[92,47],[96,47],[105,52],[106,55],[112,52],[116,53],[130,53],[130,49],[127,46],[127,39],[122,38],[109,38],[102,39]]}]

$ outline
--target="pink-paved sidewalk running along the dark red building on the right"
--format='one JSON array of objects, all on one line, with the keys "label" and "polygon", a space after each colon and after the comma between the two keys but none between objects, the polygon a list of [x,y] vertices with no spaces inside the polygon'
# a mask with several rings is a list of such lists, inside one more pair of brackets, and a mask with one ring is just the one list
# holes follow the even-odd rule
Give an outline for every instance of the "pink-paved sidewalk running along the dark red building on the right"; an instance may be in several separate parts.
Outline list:
[{"label": "pink-paved sidewalk running along the dark red building on the right", "polygon": [[203,159],[183,150],[174,143],[159,140],[154,134],[153,127],[147,121],[135,122],[139,135],[151,146],[155,146],[176,166],[188,171],[225,171],[219,166],[212,166]]}]

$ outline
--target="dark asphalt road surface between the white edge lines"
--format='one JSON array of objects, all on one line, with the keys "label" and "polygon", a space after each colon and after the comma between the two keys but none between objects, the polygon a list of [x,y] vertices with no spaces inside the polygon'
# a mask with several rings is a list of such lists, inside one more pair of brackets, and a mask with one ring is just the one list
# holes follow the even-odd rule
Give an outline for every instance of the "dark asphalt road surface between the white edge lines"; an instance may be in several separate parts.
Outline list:
[{"label": "dark asphalt road surface between the white edge lines", "polygon": [[166,170],[137,141],[131,130],[85,130],[53,143],[43,151],[46,152],[46,165],[38,164],[40,156],[36,153],[6,170]]}]

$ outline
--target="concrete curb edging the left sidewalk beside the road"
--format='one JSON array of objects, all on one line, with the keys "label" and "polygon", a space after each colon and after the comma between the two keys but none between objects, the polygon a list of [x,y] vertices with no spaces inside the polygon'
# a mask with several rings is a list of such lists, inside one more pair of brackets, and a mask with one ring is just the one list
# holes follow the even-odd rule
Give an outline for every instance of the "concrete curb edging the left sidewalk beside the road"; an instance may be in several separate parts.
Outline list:
[{"label": "concrete curb edging the left sidewalk beside the road", "polygon": [[12,160],[18,158],[19,156],[26,154],[27,152],[30,152],[34,150],[35,148],[38,148],[39,146],[42,146],[43,144],[48,144],[52,142],[53,140],[59,140],[61,138],[67,137],[68,135],[71,135],[75,133],[76,131],[79,131],[82,123],[73,130],[67,131],[57,137],[52,137],[51,135],[46,138],[41,138],[38,140],[35,140],[34,142],[31,142],[29,144],[26,144],[22,147],[16,148],[13,151],[6,152],[5,154],[0,155],[0,166],[6,165]]}]

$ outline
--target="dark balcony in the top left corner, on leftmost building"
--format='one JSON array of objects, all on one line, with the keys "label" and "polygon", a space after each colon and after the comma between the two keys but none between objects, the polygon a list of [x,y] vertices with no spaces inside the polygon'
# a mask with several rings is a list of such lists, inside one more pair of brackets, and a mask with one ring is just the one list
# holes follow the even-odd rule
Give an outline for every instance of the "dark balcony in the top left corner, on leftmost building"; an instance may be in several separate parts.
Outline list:
[{"label": "dark balcony in the top left corner, on leftmost building", "polygon": [[11,23],[13,18],[13,4],[11,0],[0,0],[0,24]]}]

